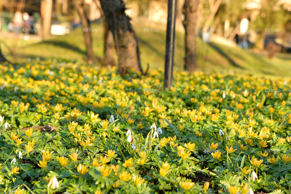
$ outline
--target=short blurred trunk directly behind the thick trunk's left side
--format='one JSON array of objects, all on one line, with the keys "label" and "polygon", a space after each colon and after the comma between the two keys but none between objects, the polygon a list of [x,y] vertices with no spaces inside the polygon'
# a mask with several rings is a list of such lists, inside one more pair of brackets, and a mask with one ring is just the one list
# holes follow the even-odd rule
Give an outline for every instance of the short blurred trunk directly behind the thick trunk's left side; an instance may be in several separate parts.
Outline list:
[{"label": "short blurred trunk directly behind the thick trunk's left side", "polygon": [[104,57],[105,63],[114,65],[114,39],[107,22],[104,22]]}]

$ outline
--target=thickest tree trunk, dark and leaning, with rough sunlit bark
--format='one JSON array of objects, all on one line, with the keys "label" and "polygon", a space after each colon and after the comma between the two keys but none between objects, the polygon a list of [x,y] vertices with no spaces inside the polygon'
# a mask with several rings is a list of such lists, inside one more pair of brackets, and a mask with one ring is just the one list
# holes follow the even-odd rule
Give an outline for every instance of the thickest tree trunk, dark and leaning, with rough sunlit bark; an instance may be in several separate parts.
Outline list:
[{"label": "thickest tree trunk, dark and leaning, with rough sunlit bark", "polygon": [[143,73],[139,59],[139,45],[130,18],[125,14],[122,0],[100,0],[109,30],[112,32],[121,75],[133,68]]}]

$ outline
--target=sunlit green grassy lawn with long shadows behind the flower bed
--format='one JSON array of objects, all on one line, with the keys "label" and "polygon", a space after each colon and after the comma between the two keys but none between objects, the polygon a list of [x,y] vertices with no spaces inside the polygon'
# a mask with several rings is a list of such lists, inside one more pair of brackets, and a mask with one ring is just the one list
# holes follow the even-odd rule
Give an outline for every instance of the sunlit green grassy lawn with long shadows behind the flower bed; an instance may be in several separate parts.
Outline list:
[{"label": "sunlit green grassy lawn with long shadows behind the flower bed", "polygon": [[[134,29],[138,36],[142,66],[146,68],[149,64],[151,68],[164,67],[165,26],[158,26],[158,32],[144,31],[145,27],[150,27],[145,23],[134,21]],[[154,24],[152,24],[153,27]],[[103,24],[94,24],[92,28],[98,28],[98,32],[92,32],[93,49],[96,58],[103,57]],[[1,38],[8,48],[12,49],[17,56],[17,60],[23,58],[56,59],[57,61],[74,61],[84,63],[86,54],[84,38],[81,28],[77,28],[69,35],[52,36],[50,39],[41,41],[38,38],[24,41],[15,38]],[[175,46],[175,71],[183,69],[184,58],[184,35],[176,32]],[[15,45],[13,47],[13,45]],[[8,52],[8,48],[1,44],[3,54]],[[256,54],[252,49],[244,51],[241,48],[230,48],[220,44],[207,44],[201,38],[197,38],[197,63],[198,71],[219,72],[223,74],[253,74],[261,77],[282,77],[283,79],[291,72],[291,56],[289,54],[279,54],[272,60],[263,54]],[[13,61],[11,54],[7,55]]]}]

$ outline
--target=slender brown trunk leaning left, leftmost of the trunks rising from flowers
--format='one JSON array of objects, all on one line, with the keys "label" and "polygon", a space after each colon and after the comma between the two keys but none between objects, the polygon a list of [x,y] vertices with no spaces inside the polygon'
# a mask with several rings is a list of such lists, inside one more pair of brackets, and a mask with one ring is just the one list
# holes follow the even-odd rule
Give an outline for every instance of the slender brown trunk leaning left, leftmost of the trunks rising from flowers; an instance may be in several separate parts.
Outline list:
[{"label": "slender brown trunk leaning left, leftmost of the trunks rising from flowers", "polygon": [[95,60],[95,56],[93,53],[93,48],[92,48],[92,37],[91,37],[91,28],[90,28],[90,23],[89,19],[85,15],[84,12],[84,7],[83,1],[79,0],[73,0],[75,9],[78,11],[81,21],[82,21],[82,26],[83,26],[83,32],[84,32],[84,38],[85,38],[85,45],[87,49],[87,61],[88,63],[92,63]]}]

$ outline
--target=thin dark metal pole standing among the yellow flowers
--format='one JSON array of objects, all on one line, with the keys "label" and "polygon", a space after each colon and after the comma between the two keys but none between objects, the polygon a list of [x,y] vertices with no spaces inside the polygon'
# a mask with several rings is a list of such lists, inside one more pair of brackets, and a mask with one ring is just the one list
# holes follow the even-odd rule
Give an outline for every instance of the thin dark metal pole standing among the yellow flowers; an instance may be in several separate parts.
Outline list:
[{"label": "thin dark metal pole standing among the yellow flowers", "polygon": [[165,88],[169,88],[172,86],[174,44],[175,44],[175,25],[176,25],[176,0],[169,0],[167,36],[166,36],[166,54],[165,54],[164,90]]}]

